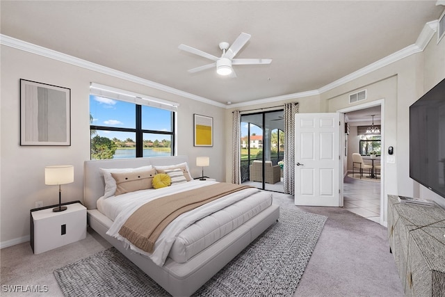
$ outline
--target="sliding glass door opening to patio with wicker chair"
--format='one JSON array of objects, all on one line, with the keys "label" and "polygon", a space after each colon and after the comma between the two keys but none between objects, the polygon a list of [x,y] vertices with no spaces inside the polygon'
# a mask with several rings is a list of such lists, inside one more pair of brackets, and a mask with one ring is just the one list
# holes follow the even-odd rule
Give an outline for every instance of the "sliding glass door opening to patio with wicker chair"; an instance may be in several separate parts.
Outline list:
[{"label": "sliding glass door opening to patio with wicker chair", "polygon": [[241,183],[284,193],[284,111],[241,115]]}]

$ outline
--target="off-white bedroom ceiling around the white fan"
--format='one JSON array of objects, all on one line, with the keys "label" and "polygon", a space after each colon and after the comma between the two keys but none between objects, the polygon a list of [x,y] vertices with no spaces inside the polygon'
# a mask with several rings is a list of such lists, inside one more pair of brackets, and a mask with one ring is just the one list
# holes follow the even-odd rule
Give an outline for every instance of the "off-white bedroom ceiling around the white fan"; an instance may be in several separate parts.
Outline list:
[{"label": "off-white bedroom ceiling around the white fan", "polygon": [[[318,90],[389,56],[438,19],[436,1],[1,1],[3,35],[226,104]],[[181,51],[220,56],[252,35],[236,78]]]}]

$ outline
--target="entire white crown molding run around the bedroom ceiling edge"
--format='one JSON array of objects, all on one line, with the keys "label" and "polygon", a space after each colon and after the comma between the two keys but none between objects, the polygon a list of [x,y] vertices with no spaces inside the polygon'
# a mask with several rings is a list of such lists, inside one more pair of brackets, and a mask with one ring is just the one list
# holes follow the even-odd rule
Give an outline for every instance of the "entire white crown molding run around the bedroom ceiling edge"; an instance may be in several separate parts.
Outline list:
[{"label": "entire white crown molding run around the bedroom ceiling edge", "polygon": [[391,63],[395,63],[396,61],[406,58],[407,56],[411,56],[412,54],[416,54],[416,53],[423,51],[426,48],[426,46],[428,45],[428,42],[430,42],[432,36],[435,35],[435,33],[437,31],[438,24],[439,24],[438,20],[426,23],[425,26],[423,26],[423,29],[422,29],[421,33],[419,34],[419,37],[417,38],[416,43],[414,43],[414,45],[410,45],[408,47],[405,47],[404,49],[401,49],[400,51],[396,51],[394,54],[391,54],[389,56],[386,56],[385,58],[380,59],[379,61],[371,63],[370,65],[367,65],[360,70],[357,70],[351,74],[346,75],[345,77],[342,77],[341,79],[337,79],[337,81],[333,81],[332,83],[329,83],[326,86],[319,88],[318,90],[309,90],[309,91],[300,92],[300,93],[293,93],[293,94],[281,95],[281,96],[276,96],[276,97],[268,97],[268,98],[263,98],[263,99],[252,100],[249,102],[241,102],[238,104],[223,104],[220,102],[216,102],[214,100],[207,99],[205,97],[200,97],[200,96],[193,95],[191,93],[187,93],[187,92],[175,89],[175,88],[171,88],[169,86],[165,86],[161,83],[155,83],[154,81],[142,79],[140,77],[136,77],[134,75],[127,74],[125,72],[113,70],[109,67],[105,67],[102,65],[91,63],[86,60],[82,60],[80,58],[76,58],[76,57],[73,57],[73,56],[70,56],[67,54],[63,54],[63,53],[60,53],[59,51],[54,51],[52,49],[47,49],[44,47],[40,47],[38,45],[33,45],[32,43],[24,42],[23,40],[18,40],[16,38],[9,37],[8,35],[0,34],[0,45],[6,45],[7,47],[13,47],[15,49],[20,49],[22,51],[28,51],[32,54],[38,54],[40,56],[52,58],[57,61],[69,63],[69,64],[76,65],[79,67],[83,67],[88,70],[107,74],[112,77],[117,77],[117,78],[131,81],[134,83],[139,83],[140,85],[143,85],[143,86],[148,86],[150,88],[162,90],[166,93],[175,94],[175,95],[185,97],[188,99],[193,99],[195,101],[203,102],[206,104],[211,104],[211,105],[222,107],[225,109],[233,109],[236,107],[252,106],[252,105],[256,105],[256,104],[266,104],[266,103],[271,103],[271,102],[277,102],[277,101],[288,100],[288,99],[297,99],[297,98],[301,98],[301,97],[309,97],[309,96],[320,95],[322,93],[325,93],[328,90],[337,88],[338,86],[341,86],[345,83],[353,81],[354,79],[357,79],[357,78],[362,77],[366,74],[374,72],[375,70],[385,67]]}]

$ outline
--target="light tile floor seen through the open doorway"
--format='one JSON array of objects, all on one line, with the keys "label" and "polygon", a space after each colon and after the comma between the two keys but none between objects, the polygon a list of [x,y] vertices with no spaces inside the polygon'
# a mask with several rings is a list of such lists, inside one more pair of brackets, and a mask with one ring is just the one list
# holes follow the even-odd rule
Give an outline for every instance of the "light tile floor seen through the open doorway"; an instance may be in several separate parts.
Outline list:
[{"label": "light tile floor seen through the open doorway", "polygon": [[380,223],[380,182],[345,177],[343,207],[348,211]]}]

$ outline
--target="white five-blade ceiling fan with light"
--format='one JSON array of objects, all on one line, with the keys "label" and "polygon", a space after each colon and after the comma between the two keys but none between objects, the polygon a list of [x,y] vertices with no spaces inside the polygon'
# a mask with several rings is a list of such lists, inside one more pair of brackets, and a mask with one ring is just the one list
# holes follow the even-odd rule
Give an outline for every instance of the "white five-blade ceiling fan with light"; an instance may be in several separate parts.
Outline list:
[{"label": "white five-blade ceiling fan with light", "polygon": [[250,34],[241,33],[238,38],[236,38],[232,46],[229,45],[229,42],[220,42],[219,46],[220,49],[223,51],[223,54],[220,56],[220,58],[218,58],[217,56],[213,56],[212,54],[207,54],[206,52],[200,51],[199,49],[195,49],[194,47],[189,47],[188,45],[179,45],[179,49],[215,61],[211,64],[188,70],[188,72],[190,73],[207,70],[216,66],[216,72],[218,74],[236,77],[232,65],[264,65],[270,64],[272,62],[272,59],[234,58],[234,56],[238,54],[238,51],[243,48],[243,46],[249,41],[249,39]]}]

